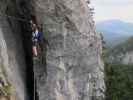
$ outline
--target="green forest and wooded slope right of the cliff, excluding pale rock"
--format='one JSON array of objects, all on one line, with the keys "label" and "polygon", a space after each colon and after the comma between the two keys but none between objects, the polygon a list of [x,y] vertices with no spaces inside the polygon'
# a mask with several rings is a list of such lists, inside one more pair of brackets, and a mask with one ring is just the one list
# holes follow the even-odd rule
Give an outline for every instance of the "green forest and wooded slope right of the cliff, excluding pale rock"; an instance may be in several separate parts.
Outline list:
[{"label": "green forest and wooded slope right of the cliff, excluding pale rock", "polygon": [[[103,37],[102,41],[104,41]],[[103,42],[103,45],[105,45],[105,42]],[[102,58],[105,62],[106,100],[133,100],[133,65],[111,64],[107,60],[112,53],[115,58],[117,54],[129,51],[133,51],[133,37],[116,46],[112,49],[112,52],[109,52],[109,49],[103,46]]]}]

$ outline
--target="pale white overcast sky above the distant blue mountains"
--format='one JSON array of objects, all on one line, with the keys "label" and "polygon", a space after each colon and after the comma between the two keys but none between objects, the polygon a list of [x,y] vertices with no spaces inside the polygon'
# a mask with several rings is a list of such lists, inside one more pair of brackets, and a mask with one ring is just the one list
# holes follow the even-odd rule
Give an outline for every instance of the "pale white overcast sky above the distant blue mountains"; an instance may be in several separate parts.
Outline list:
[{"label": "pale white overcast sky above the distant blue mountains", "polygon": [[91,0],[96,22],[119,19],[133,23],[133,0]]}]

